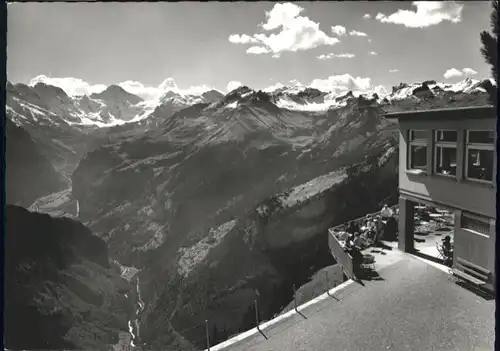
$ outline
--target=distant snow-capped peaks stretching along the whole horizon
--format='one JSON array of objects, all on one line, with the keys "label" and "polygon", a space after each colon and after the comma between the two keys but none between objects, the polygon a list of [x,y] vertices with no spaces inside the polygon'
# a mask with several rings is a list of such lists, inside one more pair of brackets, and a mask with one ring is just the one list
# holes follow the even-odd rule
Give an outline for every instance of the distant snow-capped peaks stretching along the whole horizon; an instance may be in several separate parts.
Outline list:
[{"label": "distant snow-capped peaks stretching along the whole horizon", "polygon": [[[440,91],[451,92],[485,92],[491,89],[495,82],[491,79],[474,80],[466,78],[455,84],[436,83],[426,81],[419,84],[401,83],[393,87],[392,92],[387,94],[374,93],[370,91],[345,91],[336,94],[328,91],[320,91],[307,86],[279,86],[265,89],[264,92],[280,108],[301,111],[323,111],[330,107],[341,106],[345,96],[364,95],[366,98],[403,100],[421,93],[419,88],[426,85],[433,93]],[[246,87],[238,88],[227,96],[234,95],[239,91],[241,97]],[[212,103],[221,100],[224,94],[217,90],[208,90],[201,94],[185,94],[178,90],[165,90],[156,99],[143,100],[137,95],[127,92],[119,85],[110,85],[99,93],[90,95],[67,95],[63,89],[37,82],[32,86],[25,84],[12,84],[7,82],[8,111],[14,119],[22,119],[23,110],[30,114],[35,120],[46,116],[46,123],[77,126],[111,127],[126,122],[135,122],[147,119],[156,109],[162,109],[165,114],[173,113],[199,103]],[[16,113],[17,112],[17,113]],[[168,113],[167,113],[168,112]],[[51,118],[48,118],[51,117]]]}]

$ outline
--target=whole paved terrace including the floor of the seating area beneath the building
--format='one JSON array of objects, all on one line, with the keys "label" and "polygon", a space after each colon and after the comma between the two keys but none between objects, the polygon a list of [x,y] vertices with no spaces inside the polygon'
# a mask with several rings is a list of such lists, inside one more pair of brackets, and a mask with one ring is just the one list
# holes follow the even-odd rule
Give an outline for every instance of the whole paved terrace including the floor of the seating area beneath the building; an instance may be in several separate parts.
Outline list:
[{"label": "whole paved terrace including the floor of the seating area beneath the building", "polygon": [[493,299],[457,284],[436,249],[444,233],[453,235],[452,217],[423,207],[416,220],[415,254],[382,240],[362,251],[374,256],[376,274],[358,281],[337,239],[344,226],[330,229],[329,245],[347,280],[210,350],[492,350]]}]

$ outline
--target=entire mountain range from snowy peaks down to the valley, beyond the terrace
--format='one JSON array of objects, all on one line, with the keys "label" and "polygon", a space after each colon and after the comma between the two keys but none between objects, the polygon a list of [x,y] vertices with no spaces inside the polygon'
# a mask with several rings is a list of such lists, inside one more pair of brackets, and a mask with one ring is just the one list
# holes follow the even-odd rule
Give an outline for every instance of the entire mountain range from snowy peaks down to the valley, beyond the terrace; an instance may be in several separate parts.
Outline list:
[{"label": "entire mountain range from snowy peaks down to the valley, beyond the terrace", "polygon": [[[228,335],[251,327],[255,291],[263,313],[278,313],[283,291],[313,273],[304,267],[334,264],[328,227],[396,201],[398,139],[384,112],[486,105],[494,85],[402,83],[384,96],[242,86],[144,101],[118,85],[68,96],[8,83],[7,118],[24,134],[7,150],[31,140],[56,185],[22,196],[12,185],[7,198],[69,212],[138,272],[137,340],[195,349],[204,329],[182,330],[207,318]],[[24,167],[16,157],[7,177]]]}]

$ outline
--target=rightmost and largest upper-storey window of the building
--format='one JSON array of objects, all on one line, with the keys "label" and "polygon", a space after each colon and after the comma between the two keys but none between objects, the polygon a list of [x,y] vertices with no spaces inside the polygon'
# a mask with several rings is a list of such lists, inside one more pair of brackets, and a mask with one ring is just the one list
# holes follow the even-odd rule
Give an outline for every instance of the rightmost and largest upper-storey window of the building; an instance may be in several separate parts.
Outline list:
[{"label": "rightmost and largest upper-storey window of the building", "polygon": [[493,180],[495,132],[468,130],[465,153],[465,177],[491,182]]}]

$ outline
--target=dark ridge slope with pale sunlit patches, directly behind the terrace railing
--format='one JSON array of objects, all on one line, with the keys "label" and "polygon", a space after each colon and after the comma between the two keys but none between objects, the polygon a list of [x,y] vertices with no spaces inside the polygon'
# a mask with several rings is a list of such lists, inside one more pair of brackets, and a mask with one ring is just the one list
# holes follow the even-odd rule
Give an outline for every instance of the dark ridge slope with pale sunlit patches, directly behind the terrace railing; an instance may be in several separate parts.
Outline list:
[{"label": "dark ridge slope with pale sunlit patches, directly behind the terrace railing", "polygon": [[[179,248],[177,259],[158,256],[141,273],[149,295],[143,338],[151,348],[165,345],[166,335],[157,332],[165,323],[189,329],[182,335],[202,347],[196,341],[203,341],[204,329],[193,325],[203,327],[205,319],[210,332],[224,338],[254,327],[254,299],[262,318],[278,313],[292,298],[292,284],[300,286],[316,270],[334,263],[326,245],[329,227],[397,198],[398,155],[387,147],[360,166],[266,199]],[[370,191],[374,188],[378,191]],[[212,340],[219,341],[214,334]]]}]

